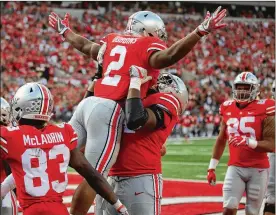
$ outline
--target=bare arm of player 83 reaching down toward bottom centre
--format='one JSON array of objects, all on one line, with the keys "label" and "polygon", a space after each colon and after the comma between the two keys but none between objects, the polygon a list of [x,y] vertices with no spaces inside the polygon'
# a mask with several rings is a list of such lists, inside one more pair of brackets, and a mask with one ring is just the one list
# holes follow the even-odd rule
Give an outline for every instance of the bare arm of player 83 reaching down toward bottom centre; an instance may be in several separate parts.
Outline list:
[{"label": "bare arm of player 83 reaching down toward bottom centre", "polygon": [[105,178],[91,166],[78,149],[71,150],[70,166],[83,176],[89,185],[113,205],[119,213],[127,215],[125,206],[120,202]]}]

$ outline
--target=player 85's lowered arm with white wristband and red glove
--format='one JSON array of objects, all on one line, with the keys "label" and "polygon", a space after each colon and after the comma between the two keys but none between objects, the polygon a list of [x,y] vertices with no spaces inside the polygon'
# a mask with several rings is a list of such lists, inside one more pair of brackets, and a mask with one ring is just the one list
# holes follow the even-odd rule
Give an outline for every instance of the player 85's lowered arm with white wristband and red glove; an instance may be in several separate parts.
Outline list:
[{"label": "player 85's lowered arm with white wristband and red glove", "polygon": [[226,142],[227,142],[226,127],[227,126],[225,122],[221,120],[220,132],[216,139],[216,143],[213,147],[213,154],[208,168],[207,180],[211,185],[215,185],[216,183],[215,170],[226,146]]}]

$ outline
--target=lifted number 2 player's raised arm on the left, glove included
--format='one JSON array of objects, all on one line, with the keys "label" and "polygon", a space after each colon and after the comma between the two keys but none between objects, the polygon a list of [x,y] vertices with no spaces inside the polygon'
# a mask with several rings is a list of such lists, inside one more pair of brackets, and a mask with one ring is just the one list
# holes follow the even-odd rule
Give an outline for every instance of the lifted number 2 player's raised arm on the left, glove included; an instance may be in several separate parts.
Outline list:
[{"label": "lifted number 2 player's raised arm on the left, glove included", "polygon": [[70,15],[66,13],[64,19],[62,20],[56,13],[52,12],[49,15],[49,24],[74,48],[83,54],[92,57],[94,60],[97,60],[100,45],[74,33],[69,27],[69,17]]}]

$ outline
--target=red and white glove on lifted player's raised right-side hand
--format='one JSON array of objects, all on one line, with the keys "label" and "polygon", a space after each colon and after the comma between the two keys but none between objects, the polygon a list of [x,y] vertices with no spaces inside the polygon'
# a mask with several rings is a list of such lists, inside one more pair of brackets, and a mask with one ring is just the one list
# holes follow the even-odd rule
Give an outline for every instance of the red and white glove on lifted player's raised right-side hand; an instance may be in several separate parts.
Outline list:
[{"label": "red and white glove on lifted player's raised right-side hand", "polygon": [[196,33],[203,37],[205,35],[210,34],[211,32],[225,27],[227,24],[221,23],[223,18],[226,16],[226,9],[221,10],[221,6],[219,6],[213,14],[210,14],[209,11],[205,16],[204,21],[196,28]]}]

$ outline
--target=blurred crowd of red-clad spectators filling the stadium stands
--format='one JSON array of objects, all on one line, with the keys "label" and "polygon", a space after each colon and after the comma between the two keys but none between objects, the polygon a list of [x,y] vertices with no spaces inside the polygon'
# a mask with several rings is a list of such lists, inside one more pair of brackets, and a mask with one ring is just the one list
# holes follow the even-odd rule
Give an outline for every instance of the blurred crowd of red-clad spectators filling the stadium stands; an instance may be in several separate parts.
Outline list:
[{"label": "blurred crowd of red-clad spectators filling the stadium stands", "polygon": [[[128,16],[121,12],[128,10],[128,7],[135,8],[130,7],[131,4],[134,3],[118,3],[111,11],[97,16],[85,11],[81,20],[71,17],[71,29],[89,40],[99,42],[105,34],[124,31]],[[177,8],[177,4],[173,4],[169,8],[171,11],[166,11],[168,7],[162,9],[158,4],[149,6],[141,3],[138,6],[168,13],[180,8],[182,11],[178,11],[179,14],[203,15],[198,6],[185,7],[181,4]],[[10,100],[22,84],[42,82],[54,95],[53,119],[68,121],[82,99],[97,63],[73,49],[49,27],[51,7],[57,6],[64,7],[54,2],[51,5],[48,2],[40,2],[39,5],[1,3],[1,96]],[[102,10],[104,5],[82,2],[76,3],[75,7]],[[269,17],[262,8],[260,11],[263,15],[259,13],[255,17]],[[243,16],[240,12],[238,15]],[[244,16],[252,17],[248,14]],[[187,16],[164,19],[168,46],[192,32],[201,21]],[[270,87],[275,79],[275,22],[228,20],[227,24],[225,29],[202,39],[187,57],[167,69],[182,77],[190,94],[187,112],[176,126],[176,135],[185,135],[187,132],[192,136],[216,135],[219,105],[231,97],[232,81],[240,72],[253,72],[260,80],[260,96],[271,96]]]}]

